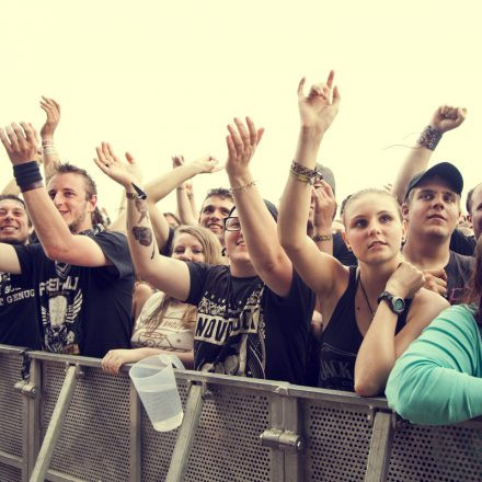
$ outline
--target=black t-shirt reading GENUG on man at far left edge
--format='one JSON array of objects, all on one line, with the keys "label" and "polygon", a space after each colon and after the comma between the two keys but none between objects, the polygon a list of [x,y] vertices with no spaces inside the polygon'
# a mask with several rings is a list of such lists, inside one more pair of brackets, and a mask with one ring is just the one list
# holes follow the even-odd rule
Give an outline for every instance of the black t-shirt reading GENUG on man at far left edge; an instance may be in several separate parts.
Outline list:
[{"label": "black t-shirt reading GENUG on man at far left edge", "polygon": [[35,289],[24,275],[0,273],[0,343],[42,349]]}]

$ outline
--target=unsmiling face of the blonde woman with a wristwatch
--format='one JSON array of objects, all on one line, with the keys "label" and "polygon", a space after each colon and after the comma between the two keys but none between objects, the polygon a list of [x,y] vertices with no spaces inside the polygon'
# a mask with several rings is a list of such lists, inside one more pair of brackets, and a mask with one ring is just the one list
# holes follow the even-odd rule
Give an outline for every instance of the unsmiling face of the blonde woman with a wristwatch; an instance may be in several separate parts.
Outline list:
[{"label": "unsmiling face of the blonde woman with a wristwatch", "polygon": [[389,194],[367,192],[346,204],[344,238],[355,256],[380,264],[400,254],[404,233],[400,208]]}]

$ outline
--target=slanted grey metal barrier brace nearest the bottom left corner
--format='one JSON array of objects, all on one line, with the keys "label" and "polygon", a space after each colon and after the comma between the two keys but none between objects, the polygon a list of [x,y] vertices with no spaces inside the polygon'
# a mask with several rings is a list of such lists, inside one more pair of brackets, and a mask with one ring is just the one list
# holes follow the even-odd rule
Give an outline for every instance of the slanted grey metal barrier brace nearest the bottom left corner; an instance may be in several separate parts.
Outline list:
[{"label": "slanted grey metal barrier brace nearest the bottom left corner", "polygon": [[35,462],[30,482],[43,482],[45,479],[45,474],[50,464],[51,456],[54,455],[55,446],[67,415],[67,410],[69,409],[73,391],[76,390],[76,369],[77,367],[73,365],[67,368],[66,378],[51,414],[50,423],[48,424],[44,441],[42,443],[41,451],[38,452],[37,461]]}]

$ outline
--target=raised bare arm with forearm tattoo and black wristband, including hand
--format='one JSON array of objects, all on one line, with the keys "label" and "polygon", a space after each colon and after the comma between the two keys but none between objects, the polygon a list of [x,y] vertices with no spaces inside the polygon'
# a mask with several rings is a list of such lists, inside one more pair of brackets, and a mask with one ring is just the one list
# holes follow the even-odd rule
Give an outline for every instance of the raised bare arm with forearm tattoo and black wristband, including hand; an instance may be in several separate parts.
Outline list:
[{"label": "raised bare arm with forearm tattoo and black wristband, including hand", "polygon": [[167,295],[181,301],[185,300],[191,287],[187,265],[180,260],[159,254],[152,234],[148,203],[140,188],[134,158],[127,157],[127,162],[122,162],[106,142],[102,142],[96,152],[94,162],[101,171],[126,190],[127,239],[136,272],[141,279]]}]

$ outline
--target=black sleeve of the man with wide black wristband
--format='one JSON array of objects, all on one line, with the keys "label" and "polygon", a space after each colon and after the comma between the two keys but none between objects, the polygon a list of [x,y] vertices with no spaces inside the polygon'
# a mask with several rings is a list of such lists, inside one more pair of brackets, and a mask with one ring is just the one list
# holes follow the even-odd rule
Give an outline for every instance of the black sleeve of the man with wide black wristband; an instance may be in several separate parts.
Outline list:
[{"label": "black sleeve of the man with wide black wristband", "polygon": [[116,279],[134,274],[134,265],[125,234],[122,232],[104,231],[92,237],[92,239],[99,244],[105,257],[112,263],[110,266],[102,266],[102,271],[105,271]]}]

